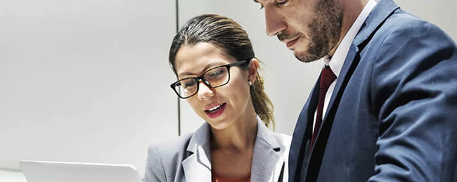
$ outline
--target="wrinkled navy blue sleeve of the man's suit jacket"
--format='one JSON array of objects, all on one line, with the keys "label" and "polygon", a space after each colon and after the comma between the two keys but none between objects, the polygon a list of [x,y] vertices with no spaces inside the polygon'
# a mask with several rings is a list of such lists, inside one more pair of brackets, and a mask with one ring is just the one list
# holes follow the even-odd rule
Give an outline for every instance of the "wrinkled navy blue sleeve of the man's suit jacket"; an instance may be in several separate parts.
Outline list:
[{"label": "wrinkled navy blue sleeve of the man's suit jacket", "polygon": [[457,182],[457,49],[435,25],[400,22],[378,47],[379,136],[370,182]]}]

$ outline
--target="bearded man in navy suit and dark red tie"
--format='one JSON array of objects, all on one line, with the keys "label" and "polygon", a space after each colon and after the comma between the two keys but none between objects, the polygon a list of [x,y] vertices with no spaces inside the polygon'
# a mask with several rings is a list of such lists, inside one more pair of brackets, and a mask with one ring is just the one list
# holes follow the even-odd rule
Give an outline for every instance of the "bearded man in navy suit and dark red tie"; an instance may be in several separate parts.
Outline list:
[{"label": "bearded man in navy suit and dark red tie", "polygon": [[289,182],[457,182],[457,48],[392,0],[255,0],[266,32],[324,59]]}]

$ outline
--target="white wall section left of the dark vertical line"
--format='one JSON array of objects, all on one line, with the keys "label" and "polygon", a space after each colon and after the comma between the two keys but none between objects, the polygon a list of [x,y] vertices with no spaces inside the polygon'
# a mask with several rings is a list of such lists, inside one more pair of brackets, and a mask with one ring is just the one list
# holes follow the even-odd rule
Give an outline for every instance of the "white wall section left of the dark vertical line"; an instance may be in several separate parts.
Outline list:
[{"label": "white wall section left of the dark vertical line", "polygon": [[171,0],[0,0],[0,168],[127,163],[177,136]]}]

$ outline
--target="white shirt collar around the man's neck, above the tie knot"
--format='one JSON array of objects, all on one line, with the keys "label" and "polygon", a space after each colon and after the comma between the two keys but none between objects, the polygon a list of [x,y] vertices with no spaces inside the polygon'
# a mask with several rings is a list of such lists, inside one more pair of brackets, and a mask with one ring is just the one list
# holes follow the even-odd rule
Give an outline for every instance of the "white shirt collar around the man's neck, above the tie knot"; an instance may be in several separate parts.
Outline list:
[{"label": "white shirt collar around the man's neck, above the tie knot", "polygon": [[343,63],[346,59],[347,53],[349,52],[349,48],[351,47],[352,41],[357,35],[357,32],[363,25],[363,22],[367,19],[370,12],[376,6],[375,0],[369,0],[367,5],[363,8],[360,15],[357,17],[354,24],[352,24],[351,28],[348,30],[346,35],[344,36],[343,40],[341,40],[340,45],[336,48],[335,54],[333,57],[325,56],[324,57],[324,64],[329,65],[330,69],[335,73],[336,77],[340,75],[341,68],[343,67]]}]

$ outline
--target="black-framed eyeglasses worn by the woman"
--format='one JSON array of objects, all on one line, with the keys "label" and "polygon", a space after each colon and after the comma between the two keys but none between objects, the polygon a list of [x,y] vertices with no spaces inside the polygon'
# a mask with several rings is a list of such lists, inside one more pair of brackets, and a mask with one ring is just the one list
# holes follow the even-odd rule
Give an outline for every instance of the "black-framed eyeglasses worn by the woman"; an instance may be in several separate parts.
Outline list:
[{"label": "black-framed eyeglasses worn by the woman", "polygon": [[230,81],[230,67],[240,66],[246,68],[250,61],[237,61],[236,63],[217,66],[205,71],[201,76],[185,78],[172,83],[173,89],[181,99],[189,98],[198,92],[200,80],[209,88],[224,86]]}]

